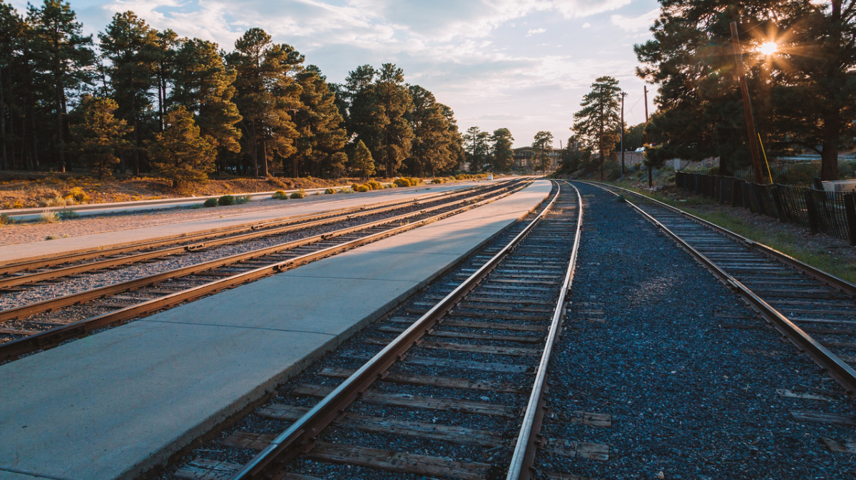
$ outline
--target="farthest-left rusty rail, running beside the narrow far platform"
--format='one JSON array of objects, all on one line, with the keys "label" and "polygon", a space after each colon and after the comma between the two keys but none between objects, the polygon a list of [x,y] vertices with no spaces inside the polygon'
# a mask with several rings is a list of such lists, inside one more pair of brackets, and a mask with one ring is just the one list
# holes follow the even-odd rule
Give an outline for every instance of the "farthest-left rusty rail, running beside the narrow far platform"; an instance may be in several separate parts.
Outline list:
[{"label": "farthest-left rusty rail, running beside the narrow far platform", "polygon": [[[508,181],[503,181],[508,182]],[[497,182],[497,183],[503,183]],[[458,191],[453,192],[443,192],[443,193],[433,193],[429,195],[425,195],[424,197],[419,197],[416,199],[417,202],[424,202],[432,199],[437,199],[441,197],[447,196],[455,196],[459,194],[466,194],[473,190],[482,188],[482,186],[476,187],[467,187]],[[399,200],[389,200],[386,202],[377,202],[375,204],[362,204],[354,207],[348,207],[344,209],[332,209],[332,210],[323,210],[320,212],[305,214],[305,215],[296,215],[296,216],[284,216],[282,218],[277,218],[274,220],[266,221],[266,222],[250,222],[242,225],[237,225],[233,227],[223,227],[223,228],[212,228],[211,230],[206,230],[205,232],[198,234],[175,234],[169,235],[165,237],[160,237],[156,240],[146,240],[143,242],[134,242],[125,245],[119,246],[111,246],[107,248],[92,248],[86,249],[81,252],[69,253],[68,255],[61,255],[58,257],[50,257],[50,258],[33,258],[31,260],[16,262],[14,264],[0,264],[0,275],[9,275],[12,273],[16,273],[19,271],[33,270],[45,267],[51,267],[53,265],[58,264],[68,264],[70,262],[80,262],[83,260],[88,260],[90,258],[98,258],[104,257],[108,255],[120,255],[122,253],[128,252],[137,252],[140,250],[145,250],[147,248],[158,248],[161,246],[169,246],[175,245],[175,243],[181,242],[183,245],[187,245],[190,242],[208,240],[210,238],[215,238],[218,236],[222,236],[225,234],[238,234],[241,232],[258,230],[259,228],[274,228],[277,226],[290,225],[295,222],[309,222],[314,220],[319,220],[322,218],[326,218],[329,216],[336,215],[345,215],[352,212],[360,212],[362,210],[368,209],[377,209],[383,208],[385,206],[391,206],[396,204],[407,204],[413,202],[413,199],[399,199]]]}]

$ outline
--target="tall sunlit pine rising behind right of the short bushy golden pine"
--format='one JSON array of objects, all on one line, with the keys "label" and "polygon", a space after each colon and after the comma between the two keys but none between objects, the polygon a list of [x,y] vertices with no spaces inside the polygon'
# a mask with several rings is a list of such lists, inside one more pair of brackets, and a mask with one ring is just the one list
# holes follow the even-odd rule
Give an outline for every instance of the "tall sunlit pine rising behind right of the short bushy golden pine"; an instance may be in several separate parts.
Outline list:
[{"label": "tall sunlit pine rising behind right of the short bushy golden pine", "polygon": [[190,39],[175,52],[174,87],[169,102],[193,112],[199,132],[223,157],[241,151],[241,121],[235,96],[235,70],[226,68],[217,44]]}]

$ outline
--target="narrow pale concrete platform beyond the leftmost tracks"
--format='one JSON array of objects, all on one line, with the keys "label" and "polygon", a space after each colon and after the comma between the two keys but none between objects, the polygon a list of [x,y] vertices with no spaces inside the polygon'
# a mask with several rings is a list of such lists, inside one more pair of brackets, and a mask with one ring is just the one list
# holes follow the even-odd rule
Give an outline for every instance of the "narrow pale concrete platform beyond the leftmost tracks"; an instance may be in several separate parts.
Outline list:
[{"label": "narrow pale concrete platform beyond the leftmost tracks", "polygon": [[[193,220],[191,222],[176,222],[143,228],[128,228],[113,232],[79,235],[69,238],[45,240],[33,243],[19,243],[0,246],[0,264],[21,262],[27,259],[50,258],[67,255],[74,252],[121,246],[139,243],[145,240],[157,240],[179,234],[194,234],[211,228],[227,228],[240,225],[252,225],[268,222],[285,216],[310,215],[325,210],[343,209],[363,204],[375,204],[394,200],[413,199],[435,193],[450,192],[461,188],[473,187],[475,182],[449,183],[426,185],[418,188],[395,188],[369,194],[332,195],[336,199],[312,201],[311,197],[303,200],[288,200],[282,202],[282,209],[251,211],[223,215],[222,212],[212,212],[211,217]],[[62,234],[62,231],[57,231]]]}]

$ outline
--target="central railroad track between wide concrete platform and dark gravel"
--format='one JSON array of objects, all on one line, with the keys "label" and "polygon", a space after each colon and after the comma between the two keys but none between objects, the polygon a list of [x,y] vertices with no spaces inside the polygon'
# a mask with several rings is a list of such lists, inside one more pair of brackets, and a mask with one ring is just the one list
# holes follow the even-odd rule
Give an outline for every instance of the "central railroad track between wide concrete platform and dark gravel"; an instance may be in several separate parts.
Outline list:
[{"label": "central railroad track between wide concrete platform and dark gravel", "polygon": [[581,218],[580,194],[557,184],[525,227],[288,382],[203,450],[220,454],[173,478],[528,478],[536,444],[604,458],[605,446],[538,437]]}]

